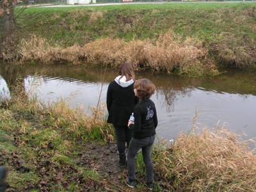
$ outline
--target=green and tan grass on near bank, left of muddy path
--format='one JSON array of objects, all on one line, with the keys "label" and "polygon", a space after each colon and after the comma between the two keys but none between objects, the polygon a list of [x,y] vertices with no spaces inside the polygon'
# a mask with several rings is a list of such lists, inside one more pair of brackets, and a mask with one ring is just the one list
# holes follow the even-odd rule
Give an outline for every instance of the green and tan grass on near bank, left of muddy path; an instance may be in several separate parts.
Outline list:
[{"label": "green and tan grass on near bank, left of muddy path", "polygon": [[[52,106],[39,107],[35,105],[36,100],[29,101],[28,97],[24,97],[20,88],[12,93],[10,102],[0,103],[1,107],[4,106],[0,109],[0,161],[1,165],[8,167],[6,181],[11,188],[15,191],[76,191],[81,188],[76,179],[82,180],[83,184],[86,184],[86,179],[97,182],[100,177],[95,168],[84,168],[74,159],[81,153],[79,142],[89,142],[95,137],[102,143],[106,140],[102,132],[100,134],[102,120],[87,121],[87,128],[92,124],[92,130],[85,130],[86,135],[81,137],[81,133],[74,134],[79,132],[76,124],[79,127],[79,120],[91,117],[85,114],[79,116],[76,110],[67,108],[61,101]],[[99,113],[97,109],[94,112]],[[93,131],[94,125],[97,131]],[[86,126],[82,128],[87,129]],[[70,182],[72,179],[76,181]],[[66,183],[60,182],[62,180]]]}]

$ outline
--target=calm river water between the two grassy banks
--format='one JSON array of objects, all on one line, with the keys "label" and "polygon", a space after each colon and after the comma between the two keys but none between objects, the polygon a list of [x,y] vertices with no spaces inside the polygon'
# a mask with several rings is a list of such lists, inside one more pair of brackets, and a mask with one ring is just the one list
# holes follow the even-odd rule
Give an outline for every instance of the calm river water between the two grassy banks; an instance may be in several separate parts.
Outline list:
[{"label": "calm river water between the two grassy banks", "polygon": [[[1,82],[10,85],[21,78],[27,92],[31,84],[36,84],[34,91],[40,100],[62,98],[71,107],[85,109],[106,102],[108,84],[117,73],[109,68],[0,64]],[[136,72],[136,79],[146,77],[156,85],[152,100],[159,119],[159,139],[171,140],[179,132],[189,132],[197,116],[198,129],[225,126],[237,134],[245,134],[243,139],[247,140],[256,138],[255,75],[232,70],[218,77],[193,78]]]}]

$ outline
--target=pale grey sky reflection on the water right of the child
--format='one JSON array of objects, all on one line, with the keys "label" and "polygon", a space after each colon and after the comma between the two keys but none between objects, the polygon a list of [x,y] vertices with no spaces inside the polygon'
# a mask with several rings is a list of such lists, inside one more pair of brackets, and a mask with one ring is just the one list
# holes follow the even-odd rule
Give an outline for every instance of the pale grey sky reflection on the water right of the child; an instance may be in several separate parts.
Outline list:
[{"label": "pale grey sky reflection on the water right of the child", "polygon": [[225,124],[239,134],[246,133],[244,138],[255,137],[256,98],[253,95],[208,92],[193,88],[189,97],[177,97],[173,102],[175,110],[168,115],[159,109],[161,135],[172,130],[173,135],[180,131],[188,132],[193,124],[195,113],[198,113],[198,127],[216,127]]}]

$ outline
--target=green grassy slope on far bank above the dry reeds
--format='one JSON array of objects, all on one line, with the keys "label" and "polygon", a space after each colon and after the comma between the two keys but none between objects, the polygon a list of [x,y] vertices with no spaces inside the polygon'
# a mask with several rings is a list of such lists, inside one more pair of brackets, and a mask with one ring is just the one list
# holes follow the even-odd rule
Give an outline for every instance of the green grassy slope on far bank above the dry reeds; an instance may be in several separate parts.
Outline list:
[{"label": "green grassy slope on far bank above the dry reeds", "polygon": [[[188,38],[202,43],[211,60],[203,65],[210,62],[220,68],[250,68],[256,63],[255,20],[254,2],[31,7],[16,20],[15,40],[19,44],[22,38],[29,42],[31,36],[36,36],[61,50],[74,45],[83,47],[103,38],[124,42],[149,39],[157,44],[159,36],[172,31],[173,36],[180,37],[180,44]],[[95,64],[101,64],[98,62]],[[177,74],[186,74],[179,70]],[[205,76],[205,71],[198,73],[196,66],[188,70],[190,76]]]}]

